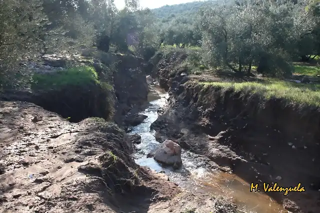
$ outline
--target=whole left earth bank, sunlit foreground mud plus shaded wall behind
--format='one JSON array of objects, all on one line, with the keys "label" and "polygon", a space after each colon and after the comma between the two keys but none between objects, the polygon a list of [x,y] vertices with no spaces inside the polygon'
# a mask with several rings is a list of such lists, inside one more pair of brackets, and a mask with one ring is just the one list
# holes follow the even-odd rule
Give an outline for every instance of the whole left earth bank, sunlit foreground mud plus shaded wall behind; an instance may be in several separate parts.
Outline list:
[{"label": "whole left earth bank, sunlit foreground mud plus shaded wall behind", "polygon": [[[148,87],[139,58],[114,56],[120,59],[115,72],[114,60],[92,64],[112,89],[92,83],[1,92],[0,211],[239,212],[225,199],[183,190],[134,162],[121,127],[143,107]],[[57,71],[52,64],[37,68]]]}]

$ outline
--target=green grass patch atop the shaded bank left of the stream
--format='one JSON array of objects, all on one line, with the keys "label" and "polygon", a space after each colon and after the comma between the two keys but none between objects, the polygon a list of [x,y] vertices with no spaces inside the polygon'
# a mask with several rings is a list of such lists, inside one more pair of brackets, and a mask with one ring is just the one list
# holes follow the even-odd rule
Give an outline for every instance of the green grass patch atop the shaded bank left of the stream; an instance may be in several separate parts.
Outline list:
[{"label": "green grass patch atop the shaded bank left of the stream", "polygon": [[90,66],[75,66],[53,73],[35,73],[32,76],[31,88],[55,89],[65,85],[86,85],[92,83],[100,83],[95,69]]}]

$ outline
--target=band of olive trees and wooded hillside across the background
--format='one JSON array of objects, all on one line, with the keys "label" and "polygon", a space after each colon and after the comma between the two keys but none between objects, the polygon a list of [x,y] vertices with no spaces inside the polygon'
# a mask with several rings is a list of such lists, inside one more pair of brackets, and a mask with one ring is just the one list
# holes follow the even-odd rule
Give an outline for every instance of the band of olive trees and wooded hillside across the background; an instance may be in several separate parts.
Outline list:
[{"label": "band of olive trees and wooded hillside across the background", "polygon": [[146,56],[160,43],[184,43],[201,46],[199,55],[193,56],[206,66],[222,65],[238,72],[258,66],[260,72],[286,72],[291,69],[288,61],[319,54],[318,4],[318,0],[221,0],[141,10],[131,0],[118,11],[112,0],[4,0],[1,81],[13,80],[9,73],[24,60],[92,45],[108,51],[109,44],[119,51],[131,46]]}]

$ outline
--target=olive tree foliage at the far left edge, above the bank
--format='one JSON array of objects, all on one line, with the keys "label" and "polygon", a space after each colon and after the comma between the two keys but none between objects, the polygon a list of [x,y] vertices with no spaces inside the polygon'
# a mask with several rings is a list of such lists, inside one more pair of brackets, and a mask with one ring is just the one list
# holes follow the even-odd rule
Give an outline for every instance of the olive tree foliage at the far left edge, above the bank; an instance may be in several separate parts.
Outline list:
[{"label": "olive tree foliage at the far left edge, above the bank", "polygon": [[62,31],[48,30],[50,22],[42,12],[41,0],[1,0],[0,3],[0,84],[13,83],[22,62],[37,60],[40,52],[56,47]]}]

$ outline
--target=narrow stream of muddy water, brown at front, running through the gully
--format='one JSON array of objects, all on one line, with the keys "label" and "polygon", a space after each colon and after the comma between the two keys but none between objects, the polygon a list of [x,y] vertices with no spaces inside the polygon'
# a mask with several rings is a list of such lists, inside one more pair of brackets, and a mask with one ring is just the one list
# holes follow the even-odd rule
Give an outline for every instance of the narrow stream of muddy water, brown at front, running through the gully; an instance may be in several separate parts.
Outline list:
[{"label": "narrow stream of muddy water, brown at front, running through the gully", "polygon": [[130,134],[137,133],[141,136],[141,143],[136,145],[137,152],[134,154],[136,163],[148,166],[157,172],[164,171],[169,179],[179,184],[180,187],[214,196],[228,197],[243,212],[286,212],[269,196],[259,192],[250,192],[249,183],[238,176],[206,168],[205,163],[197,161],[196,154],[192,152],[182,150],[183,166],[178,170],[164,167],[153,158],[147,158],[146,154],[159,144],[154,138],[155,132],[150,130],[150,125],[157,119],[157,109],[167,104],[167,94],[158,87],[152,88],[154,90],[148,96],[150,106],[141,112],[148,117],[141,124],[132,127],[130,131]]}]

